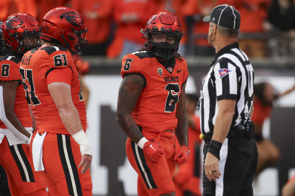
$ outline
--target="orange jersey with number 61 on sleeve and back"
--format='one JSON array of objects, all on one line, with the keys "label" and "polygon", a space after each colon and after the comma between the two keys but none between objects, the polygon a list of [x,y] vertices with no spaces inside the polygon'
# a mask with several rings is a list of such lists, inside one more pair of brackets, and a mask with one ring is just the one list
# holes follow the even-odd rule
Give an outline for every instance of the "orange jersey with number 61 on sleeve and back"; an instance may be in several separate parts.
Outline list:
[{"label": "orange jersey with number 61 on sleeve and back", "polygon": [[[54,71],[54,77],[50,75],[50,79],[48,79],[48,74],[55,69],[59,69],[58,72]],[[72,70],[71,81],[67,81],[63,77],[66,69]],[[86,130],[86,109],[81,95],[81,81],[72,55],[66,48],[50,46],[28,51],[22,58],[20,73],[26,91],[26,99],[36,118],[39,133],[47,131],[69,134],[47,88],[47,85],[53,82],[65,82],[71,85],[72,100],[79,112],[83,129]]]}]

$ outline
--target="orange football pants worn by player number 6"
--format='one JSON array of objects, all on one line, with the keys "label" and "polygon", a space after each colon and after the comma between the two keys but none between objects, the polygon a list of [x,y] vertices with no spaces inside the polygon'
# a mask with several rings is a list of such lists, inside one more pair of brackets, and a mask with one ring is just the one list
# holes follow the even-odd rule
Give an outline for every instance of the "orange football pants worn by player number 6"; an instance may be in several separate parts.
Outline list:
[{"label": "orange football pants worn by player number 6", "polygon": [[175,131],[148,132],[143,131],[147,140],[159,143],[165,154],[156,162],[144,155],[143,150],[130,138],[126,141],[127,158],[138,174],[137,194],[141,196],[159,196],[175,192],[172,177],[175,172]]}]

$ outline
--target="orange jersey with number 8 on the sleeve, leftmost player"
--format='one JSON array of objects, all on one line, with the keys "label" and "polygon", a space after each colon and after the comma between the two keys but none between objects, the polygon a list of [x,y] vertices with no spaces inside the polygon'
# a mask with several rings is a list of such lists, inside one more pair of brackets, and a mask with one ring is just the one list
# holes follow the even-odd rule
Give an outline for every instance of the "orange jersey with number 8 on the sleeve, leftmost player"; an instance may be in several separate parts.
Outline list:
[{"label": "orange jersey with number 8 on the sleeve, leftmost player", "polygon": [[[22,78],[19,74],[19,65],[22,57],[19,54],[9,54],[0,58],[0,81],[14,81],[18,80],[19,85],[16,88],[14,113],[24,127],[32,127],[32,118],[29,111],[29,106],[24,96],[24,88],[22,86]],[[0,121],[0,128],[7,129],[7,127]]]}]

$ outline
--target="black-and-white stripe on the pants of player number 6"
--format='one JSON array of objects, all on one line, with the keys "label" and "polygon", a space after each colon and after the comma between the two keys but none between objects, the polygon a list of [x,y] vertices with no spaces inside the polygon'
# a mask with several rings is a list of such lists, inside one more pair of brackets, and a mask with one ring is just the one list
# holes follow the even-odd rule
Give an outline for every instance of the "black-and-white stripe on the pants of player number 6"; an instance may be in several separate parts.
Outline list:
[{"label": "black-and-white stripe on the pants of player number 6", "polygon": [[[148,168],[148,164],[145,161],[144,152],[132,140],[131,140],[131,146],[132,146],[132,151],[133,151],[133,155],[134,155],[137,167],[140,171],[142,178],[144,179],[145,185],[148,187],[148,189],[158,188],[151,174],[151,170]],[[147,176],[145,176],[145,174]]]}]

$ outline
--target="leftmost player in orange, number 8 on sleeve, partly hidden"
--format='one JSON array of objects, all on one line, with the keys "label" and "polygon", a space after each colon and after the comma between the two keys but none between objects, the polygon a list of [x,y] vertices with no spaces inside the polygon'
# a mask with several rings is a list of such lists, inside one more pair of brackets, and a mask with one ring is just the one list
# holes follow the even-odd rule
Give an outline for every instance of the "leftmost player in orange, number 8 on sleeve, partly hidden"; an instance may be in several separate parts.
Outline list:
[{"label": "leftmost player in orange, number 8 on sleeve, partly hidden", "polygon": [[32,119],[24,96],[19,65],[28,50],[40,46],[38,21],[16,13],[3,23],[3,57],[0,57],[0,163],[12,195],[47,195],[44,179],[34,171],[29,154]]}]

